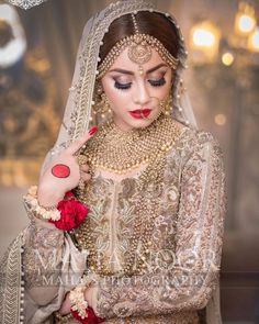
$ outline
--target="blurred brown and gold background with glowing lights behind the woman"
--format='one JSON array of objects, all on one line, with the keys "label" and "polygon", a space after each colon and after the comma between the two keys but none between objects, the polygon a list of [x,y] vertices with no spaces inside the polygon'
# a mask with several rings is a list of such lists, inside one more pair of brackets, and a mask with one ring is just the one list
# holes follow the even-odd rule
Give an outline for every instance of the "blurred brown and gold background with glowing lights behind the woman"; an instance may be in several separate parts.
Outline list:
[{"label": "blurred brown and gold background with glowing lights behind the woman", "polygon": [[[22,10],[0,0],[0,254],[27,224],[22,195],[55,142],[83,25],[110,2],[48,0]],[[224,150],[223,320],[259,323],[259,1],[155,2],[182,29],[200,129]]]}]

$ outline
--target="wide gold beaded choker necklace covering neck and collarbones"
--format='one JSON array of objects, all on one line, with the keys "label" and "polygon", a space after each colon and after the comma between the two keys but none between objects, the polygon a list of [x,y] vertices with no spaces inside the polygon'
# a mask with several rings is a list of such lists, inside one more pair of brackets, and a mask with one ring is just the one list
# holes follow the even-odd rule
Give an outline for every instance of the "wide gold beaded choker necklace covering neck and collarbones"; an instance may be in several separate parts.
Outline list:
[{"label": "wide gold beaded choker necklace covering neck and collarbones", "polygon": [[100,168],[126,174],[170,148],[178,129],[172,119],[165,115],[145,129],[128,132],[122,131],[112,120],[100,127],[80,154],[92,171]]}]

